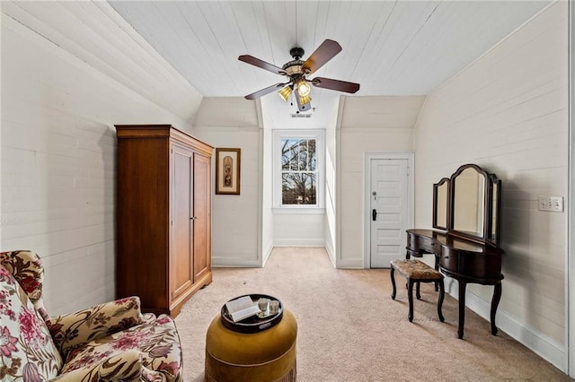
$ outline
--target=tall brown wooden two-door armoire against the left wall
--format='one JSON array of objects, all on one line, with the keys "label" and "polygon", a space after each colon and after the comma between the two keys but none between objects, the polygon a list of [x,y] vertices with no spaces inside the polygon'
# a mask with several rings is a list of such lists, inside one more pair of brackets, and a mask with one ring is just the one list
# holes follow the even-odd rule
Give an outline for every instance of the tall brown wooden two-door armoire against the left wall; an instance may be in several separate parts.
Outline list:
[{"label": "tall brown wooden two-door armoire against the left wall", "polygon": [[170,125],[116,125],[116,296],[175,317],[211,273],[213,147]]}]

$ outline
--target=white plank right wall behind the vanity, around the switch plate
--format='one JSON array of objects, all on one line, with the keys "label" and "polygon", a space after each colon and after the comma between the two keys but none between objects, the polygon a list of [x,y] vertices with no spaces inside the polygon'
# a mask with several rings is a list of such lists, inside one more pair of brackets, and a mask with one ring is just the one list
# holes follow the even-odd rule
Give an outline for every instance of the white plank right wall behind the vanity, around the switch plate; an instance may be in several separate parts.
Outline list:
[{"label": "white plank right wall behind the vanity, around the switch plate", "polygon": [[[502,179],[500,328],[565,368],[566,213],[538,195],[568,191],[568,3],[557,2],[429,96],[415,130],[416,226],[432,184],[464,163]],[[568,203],[569,201],[567,201]],[[489,317],[492,287],[469,285]]]}]

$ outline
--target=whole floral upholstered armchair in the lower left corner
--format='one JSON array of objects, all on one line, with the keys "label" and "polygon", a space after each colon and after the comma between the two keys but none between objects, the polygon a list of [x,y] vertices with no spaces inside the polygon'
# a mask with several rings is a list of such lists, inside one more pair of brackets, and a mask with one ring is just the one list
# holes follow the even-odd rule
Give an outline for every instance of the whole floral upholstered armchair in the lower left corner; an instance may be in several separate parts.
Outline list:
[{"label": "whole floral upholstered armchair in the lower left corner", "polygon": [[0,380],[181,380],[171,317],[143,315],[137,297],[49,317],[43,272],[33,252],[0,252]]}]

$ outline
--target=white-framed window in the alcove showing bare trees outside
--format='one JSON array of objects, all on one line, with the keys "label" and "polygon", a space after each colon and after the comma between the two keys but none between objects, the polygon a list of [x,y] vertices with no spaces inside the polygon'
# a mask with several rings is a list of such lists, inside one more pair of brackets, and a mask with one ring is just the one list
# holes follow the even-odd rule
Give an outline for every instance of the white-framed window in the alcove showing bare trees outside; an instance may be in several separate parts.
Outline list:
[{"label": "white-framed window in the alcove showing bare trees outside", "polygon": [[323,131],[274,131],[274,205],[322,207]]}]

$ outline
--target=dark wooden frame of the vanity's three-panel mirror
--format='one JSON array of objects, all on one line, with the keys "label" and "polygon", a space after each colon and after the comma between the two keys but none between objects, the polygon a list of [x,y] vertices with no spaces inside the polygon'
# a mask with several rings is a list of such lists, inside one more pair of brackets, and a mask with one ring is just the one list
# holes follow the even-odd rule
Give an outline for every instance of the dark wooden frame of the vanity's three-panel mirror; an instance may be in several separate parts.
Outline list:
[{"label": "dark wooden frame of the vanity's three-panel mirror", "polygon": [[[464,169],[475,169],[484,178],[483,182],[483,227],[479,235],[456,230],[454,227],[454,204],[456,200],[456,178],[461,175]],[[438,219],[438,187],[447,182],[447,227],[440,227]],[[495,217],[495,221],[493,221]],[[495,224],[495,227],[493,225]],[[433,228],[447,230],[447,234],[470,239],[482,244],[490,244],[493,247],[500,246],[501,232],[501,180],[495,174],[491,174],[476,164],[464,164],[454,172],[450,178],[441,178],[433,185]]]}]

